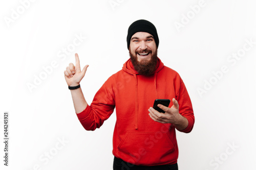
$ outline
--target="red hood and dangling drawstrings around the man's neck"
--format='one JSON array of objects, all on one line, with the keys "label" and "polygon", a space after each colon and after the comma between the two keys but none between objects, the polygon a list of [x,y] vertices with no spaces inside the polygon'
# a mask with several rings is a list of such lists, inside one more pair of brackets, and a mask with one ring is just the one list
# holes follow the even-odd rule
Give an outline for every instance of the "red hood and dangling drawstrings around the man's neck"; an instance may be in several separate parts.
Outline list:
[{"label": "red hood and dangling drawstrings around the man's neck", "polygon": [[[157,61],[157,66],[156,70],[154,71],[154,83],[155,83],[155,92],[156,92],[156,99],[158,99],[158,93],[157,93],[157,73],[163,68],[163,63],[162,61],[158,58]],[[138,122],[139,122],[139,108],[138,108],[138,78],[137,75],[139,73],[134,69],[134,66],[132,64],[131,59],[127,60],[124,64],[122,69],[127,72],[128,74],[133,75],[135,79],[135,118],[136,118],[136,123],[135,123],[135,129],[138,129]],[[151,75],[153,76],[153,74]]]}]

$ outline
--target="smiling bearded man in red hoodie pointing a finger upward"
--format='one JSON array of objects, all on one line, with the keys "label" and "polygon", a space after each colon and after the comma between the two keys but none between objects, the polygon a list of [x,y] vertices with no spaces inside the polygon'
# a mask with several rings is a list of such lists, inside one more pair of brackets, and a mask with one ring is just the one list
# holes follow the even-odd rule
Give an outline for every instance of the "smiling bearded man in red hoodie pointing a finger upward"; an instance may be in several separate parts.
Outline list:
[{"label": "smiling bearded man in red hoodie pointing a finger upward", "polygon": [[[133,22],[126,41],[130,59],[105,81],[90,106],[79,85],[88,65],[81,71],[75,54],[76,65],[70,63],[64,74],[76,115],[84,129],[93,131],[116,109],[113,169],[178,169],[176,130],[189,133],[195,123],[184,82],[158,58],[153,23]],[[152,108],[155,99],[170,99],[173,105],[159,104],[164,113],[158,112]]]}]

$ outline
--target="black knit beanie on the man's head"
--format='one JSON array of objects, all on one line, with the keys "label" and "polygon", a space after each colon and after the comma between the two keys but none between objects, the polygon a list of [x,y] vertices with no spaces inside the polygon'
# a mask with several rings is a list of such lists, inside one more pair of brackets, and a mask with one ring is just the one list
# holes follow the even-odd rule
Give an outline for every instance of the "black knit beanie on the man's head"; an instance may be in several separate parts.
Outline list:
[{"label": "black knit beanie on the man's head", "polygon": [[137,32],[146,32],[146,33],[150,33],[151,35],[153,35],[154,40],[157,45],[157,48],[158,48],[159,38],[157,35],[156,27],[150,21],[140,19],[140,20],[136,20],[135,22],[133,22],[128,29],[128,34],[127,34],[127,38],[126,38],[128,49],[130,46],[132,36]]}]

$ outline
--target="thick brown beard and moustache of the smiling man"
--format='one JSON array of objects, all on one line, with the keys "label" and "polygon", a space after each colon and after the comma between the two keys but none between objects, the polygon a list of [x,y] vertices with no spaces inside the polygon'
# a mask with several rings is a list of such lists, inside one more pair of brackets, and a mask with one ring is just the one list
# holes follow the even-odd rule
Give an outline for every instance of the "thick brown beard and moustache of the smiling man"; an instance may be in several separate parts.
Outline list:
[{"label": "thick brown beard and moustache of the smiling man", "polygon": [[[147,60],[141,60],[138,61],[137,54],[138,53],[151,53],[151,59],[150,61]],[[157,51],[153,54],[151,50],[145,50],[145,51],[135,51],[135,56],[132,54],[131,49],[129,47],[129,54],[132,61],[132,64],[134,66],[134,69],[139,73],[139,75],[144,76],[150,76],[154,74],[157,66]]]}]

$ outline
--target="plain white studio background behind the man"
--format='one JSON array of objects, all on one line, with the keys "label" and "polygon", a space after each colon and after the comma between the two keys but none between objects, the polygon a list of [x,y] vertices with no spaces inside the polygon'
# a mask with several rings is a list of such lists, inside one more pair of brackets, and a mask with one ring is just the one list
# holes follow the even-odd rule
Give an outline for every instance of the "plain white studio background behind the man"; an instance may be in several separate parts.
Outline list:
[{"label": "plain white studio background behind the man", "polygon": [[[91,103],[104,81],[129,59],[127,29],[137,19],[154,23],[158,56],[180,74],[193,103],[193,131],[177,132],[179,169],[256,168],[255,1],[205,0],[196,14],[191,7],[199,1],[194,0],[38,0],[26,9],[20,3],[24,1],[0,4],[0,127],[3,139],[3,113],[8,111],[10,137],[8,167],[0,144],[1,169],[112,169],[115,112],[100,129],[84,130],[63,71],[75,62],[75,53],[81,67],[90,65],[80,84]],[[177,29],[178,22],[185,24]],[[72,47],[75,35],[86,39],[59,58],[62,48]],[[228,61],[250,39],[250,50],[235,64]],[[54,61],[57,66],[51,70]],[[214,78],[212,71],[225,65],[228,71]],[[45,79],[29,90],[28,84],[43,74]],[[200,96],[198,88],[204,89],[210,80],[214,85]]]}]

